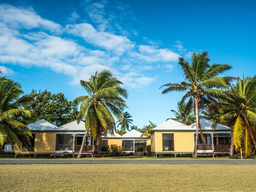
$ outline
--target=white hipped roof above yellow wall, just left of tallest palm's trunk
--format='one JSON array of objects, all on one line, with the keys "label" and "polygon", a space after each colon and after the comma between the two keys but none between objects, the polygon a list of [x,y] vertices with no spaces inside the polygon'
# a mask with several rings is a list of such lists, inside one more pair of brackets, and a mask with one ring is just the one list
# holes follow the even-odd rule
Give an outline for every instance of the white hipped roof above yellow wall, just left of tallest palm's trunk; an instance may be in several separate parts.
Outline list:
[{"label": "white hipped roof above yellow wall, just left of tallest palm's trunk", "polygon": [[151,129],[152,131],[192,131],[192,128],[183,123],[177,122],[175,120],[169,119],[166,122],[158,125],[157,127]]}]

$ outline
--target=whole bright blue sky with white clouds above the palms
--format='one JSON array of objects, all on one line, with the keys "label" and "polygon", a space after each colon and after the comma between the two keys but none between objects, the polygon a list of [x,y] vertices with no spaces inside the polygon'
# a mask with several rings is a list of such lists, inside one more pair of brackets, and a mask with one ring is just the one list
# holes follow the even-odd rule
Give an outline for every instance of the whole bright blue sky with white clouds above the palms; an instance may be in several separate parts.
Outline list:
[{"label": "whole bright blue sky with white clouds above the palms", "polygon": [[0,68],[32,89],[87,93],[79,80],[111,70],[129,92],[128,113],[142,128],[173,117],[183,93],[159,87],[183,80],[178,57],[208,51],[229,63],[226,76],[256,73],[253,1],[0,0]]}]

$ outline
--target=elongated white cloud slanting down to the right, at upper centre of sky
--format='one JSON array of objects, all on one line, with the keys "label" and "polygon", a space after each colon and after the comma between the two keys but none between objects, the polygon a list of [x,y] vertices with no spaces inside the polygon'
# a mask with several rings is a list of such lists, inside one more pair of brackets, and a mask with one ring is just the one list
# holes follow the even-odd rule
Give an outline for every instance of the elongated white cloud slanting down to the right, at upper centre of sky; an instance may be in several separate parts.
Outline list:
[{"label": "elongated white cloud slanting down to the right, at upper centre of sky", "polygon": [[67,25],[67,31],[94,46],[101,47],[108,51],[114,52],[116,55],[122,55],[124,52],[135,47],[125,36],[118,36],[109,32],[98,32],[91,24],[81,23],[77,25]]}]

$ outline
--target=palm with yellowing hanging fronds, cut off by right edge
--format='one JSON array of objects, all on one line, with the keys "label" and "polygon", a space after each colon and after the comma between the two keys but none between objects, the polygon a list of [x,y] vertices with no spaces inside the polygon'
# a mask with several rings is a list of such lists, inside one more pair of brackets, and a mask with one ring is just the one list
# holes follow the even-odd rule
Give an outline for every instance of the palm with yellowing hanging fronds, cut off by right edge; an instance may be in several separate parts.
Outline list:
[{"label": "palm with yellowing hanging fronds, cut off by right edge", "polygon": [[[242,149],[244,157],[251,155],[256,148],[256,76],[253,78],[238,77],[232,90],[224,93],[221,102],[212,105],[224,111],[215,120],[216,123],[229,122],[232,126],[232,145],[236,151]],[[253,146],[254,145],[254,146]],[[230,157],[233,157],[230,151]]]}]

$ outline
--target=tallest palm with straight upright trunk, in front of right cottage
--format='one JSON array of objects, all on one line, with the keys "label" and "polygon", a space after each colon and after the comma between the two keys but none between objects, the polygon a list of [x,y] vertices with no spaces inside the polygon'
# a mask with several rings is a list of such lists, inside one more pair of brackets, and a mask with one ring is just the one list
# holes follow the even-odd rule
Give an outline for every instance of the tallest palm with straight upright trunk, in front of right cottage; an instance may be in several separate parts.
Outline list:
[{"label": "tallest palm with straight upright trunk, in front of right cottage", "polygon": [[188,102],[192,103],[196,117],[195,147],[193,151],[194,158],[197,158],[199,110],[205,102],[211,99],[211,97],[219,96],[219,88],[227,86],[227,79],[229,78],[217,76],[232,68],[229,64],[214,63],[209,65],[209,61],[208,52],[206,51],[198,54],[193,53],[191,64],[189,64],[188,61],[185,61],[185,58],[180,57],[178,64],[182,67],[185,81],[182,81],[181,83],[167,83],[160,87],[167,87],[163,90],[163,94],[172,91],[186,91],[181,102],[189,99]]}]

